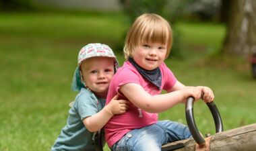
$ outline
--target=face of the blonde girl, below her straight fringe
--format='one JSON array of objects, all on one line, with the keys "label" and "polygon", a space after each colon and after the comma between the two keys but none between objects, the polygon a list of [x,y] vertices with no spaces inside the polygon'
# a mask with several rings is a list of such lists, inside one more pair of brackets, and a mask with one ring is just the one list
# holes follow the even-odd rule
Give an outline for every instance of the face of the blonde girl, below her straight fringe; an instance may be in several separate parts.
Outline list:
[{"label": "face of the blonde girl, below her straight fringe", "polygon": [[153,70],[164,62],[167,46],[159,43],[141,43],[132,54],[133,60],[141,68]]}]

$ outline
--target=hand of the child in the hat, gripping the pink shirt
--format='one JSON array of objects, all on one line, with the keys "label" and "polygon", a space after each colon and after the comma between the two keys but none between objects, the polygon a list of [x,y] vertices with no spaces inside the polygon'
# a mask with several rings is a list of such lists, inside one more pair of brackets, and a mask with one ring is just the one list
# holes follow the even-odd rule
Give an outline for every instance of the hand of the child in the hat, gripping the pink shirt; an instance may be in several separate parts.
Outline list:
[{"label": "hand of the child in the hat, gripping the pink shirt", "polygon": [[109,110],[113,115],[125,113],[128,109],[129,101],[118,99],[119,95],[115,95],[113,99],[111,99],[110,103],[108,104]]}]

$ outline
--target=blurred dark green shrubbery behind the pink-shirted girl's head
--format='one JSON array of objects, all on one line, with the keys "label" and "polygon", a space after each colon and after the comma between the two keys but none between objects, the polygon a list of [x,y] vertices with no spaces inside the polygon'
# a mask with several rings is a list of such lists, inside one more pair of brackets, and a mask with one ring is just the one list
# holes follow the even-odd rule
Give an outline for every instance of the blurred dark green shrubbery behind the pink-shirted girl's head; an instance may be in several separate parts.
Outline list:
[{"label": "blurred dark green shrubbery behind the pink-shirted girl's head", "polygon": [[210,0],[121,0],[125,13],[129,16],[131,24],[135,17],[141,13],[157,13],[166,18],[174,31],[172,56],[182,56],[180,32],[175,28],[177,21],[218,21],[220,14],[220,1]]}]

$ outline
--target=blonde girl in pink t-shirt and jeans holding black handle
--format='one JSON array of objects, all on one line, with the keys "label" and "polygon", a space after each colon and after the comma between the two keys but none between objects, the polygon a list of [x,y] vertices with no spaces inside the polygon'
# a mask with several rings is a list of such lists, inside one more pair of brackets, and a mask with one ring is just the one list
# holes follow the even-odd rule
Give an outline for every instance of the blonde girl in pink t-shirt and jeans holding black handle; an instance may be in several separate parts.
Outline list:
[{"label": "blonde girl in pink t-shirt and jeans holding black handle", "polygon": [[[127,33],[124,54],[127,61],[119,68],[108,89],[106,105],[119,94],[131,102],[122,115],[114,115],[105,125],[106,142],[111,150],[160,151],[162,144],[191,137],[186,125],[158,121],[166,111],[187,97],[213,101],[208,87],[185,87],[164,64],[172,46],[168,21],[156,14],[143,14]],[[166,94],[160,94],[165,90]]]}]

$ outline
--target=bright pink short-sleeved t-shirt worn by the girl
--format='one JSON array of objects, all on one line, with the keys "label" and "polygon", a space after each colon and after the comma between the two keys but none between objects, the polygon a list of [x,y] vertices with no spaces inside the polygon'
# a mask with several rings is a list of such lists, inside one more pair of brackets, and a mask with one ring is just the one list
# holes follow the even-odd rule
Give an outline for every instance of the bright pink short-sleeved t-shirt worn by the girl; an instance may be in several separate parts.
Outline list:
[{"label": "bright pink short-sleeved t-shirt worn by the girl", "polygon": [[[150,83],[147,79],[144,79],[129,61],[126,61],[123,66],[117,70],[117,73],[111,80],[106,104],[119,93],[119,88],[127,83],[137,83],[138,85],[141,85],[141,87],[150,93],[150,95],[159,95],[162,89],[168,90],[173,87],[177,79],[166,64],[162,63],[160,65],[160,71],[162,73],[162,85],[161,89],[158,89],[158,87]],[[123,94],[119,93],[119,95],[120,99],[126,99]],[[131,103],[129,109],[127,109],[125,113],[113,116],[108,123],[106,123],[106,142],[108,143],[108,146],[111,147],[115,142],[119,141],[125,134],[127,134],[127,132],[151,125],[156,123],[156,121],[158,121],[157,113],[148,113]]]}]

